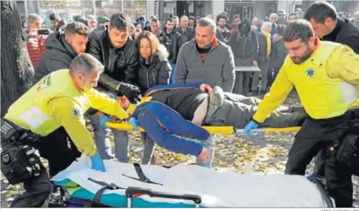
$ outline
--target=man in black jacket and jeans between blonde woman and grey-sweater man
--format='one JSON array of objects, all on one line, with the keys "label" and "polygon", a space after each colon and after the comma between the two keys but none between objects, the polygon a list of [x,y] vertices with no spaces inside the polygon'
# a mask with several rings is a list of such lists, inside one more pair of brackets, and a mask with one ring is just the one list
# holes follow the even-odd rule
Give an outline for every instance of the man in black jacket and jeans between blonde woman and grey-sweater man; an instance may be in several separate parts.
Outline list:
[{"label": "man in black jacket and jeans between blonde woman and grey-sweater man", "polygon": [[172,18],[168,18],[165,23],[165,34],[170,38],[170,55],[168,56],[168,61],[171,64],[172,72],[170,77],[170,84],[176,83],[176,62],[178,51],[182,45],[181,34],[174,30],[174,23]]}]

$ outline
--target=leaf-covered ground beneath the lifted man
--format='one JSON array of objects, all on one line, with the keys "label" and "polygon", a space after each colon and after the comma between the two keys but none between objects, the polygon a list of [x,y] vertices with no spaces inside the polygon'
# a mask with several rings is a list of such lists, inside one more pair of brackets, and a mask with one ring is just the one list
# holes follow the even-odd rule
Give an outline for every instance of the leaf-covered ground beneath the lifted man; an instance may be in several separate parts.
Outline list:
[{"label": "leaf-covered ground beneath the lifted man", "polygon": [[[298,105],[297,95],[290,95],[286,104]],[[293,132],[262,133],[251,138],[244,138],[241,134],[218,136],[212,169],[219,172],[283,173],[294,134]],[[132,133],[130,135],[130,162],[141,162],[142,152],[141,136]],[[194,156],[183,156],[161,147],[156,148],[155,157],[161,165],[193,164],[196,162]],[[310,164],[308,173],[312,169],[313,165]],[[359,207],[358,177],[353,177],[353,179],[355,183],[355,206]],[[8,207],[14,197],[22,191],[21,185],[10,186],[1,175],[1,208]]]}]

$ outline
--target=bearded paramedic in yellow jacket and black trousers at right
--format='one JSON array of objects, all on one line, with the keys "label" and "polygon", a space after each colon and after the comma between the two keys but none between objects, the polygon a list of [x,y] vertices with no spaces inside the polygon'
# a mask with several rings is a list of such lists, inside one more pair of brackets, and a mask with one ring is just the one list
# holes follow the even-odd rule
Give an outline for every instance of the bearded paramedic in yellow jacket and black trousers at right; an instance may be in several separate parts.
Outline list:
[{"label": "bearded paramedic in yellow jacket and black trousers at right", "polygon": [[[289,54],[244,133],[264,123],[295,86],[308,118],[290,149],[286,174],[304,175],[318,151],[359,120],[359,55],[345,45],[320,41],[304,20],[290,23],[283,40]],[[352,173],[332,158],[326,161],[327,190],[337,207],[352,206]]]}]

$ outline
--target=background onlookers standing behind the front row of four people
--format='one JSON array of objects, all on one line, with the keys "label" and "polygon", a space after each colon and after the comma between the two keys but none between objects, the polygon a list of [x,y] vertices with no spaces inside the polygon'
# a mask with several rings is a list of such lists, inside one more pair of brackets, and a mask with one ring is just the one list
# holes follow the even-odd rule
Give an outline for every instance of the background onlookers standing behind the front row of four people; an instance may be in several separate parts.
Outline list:
[{"label": "background onlookers standing behind the front row of four people", "polygon": [[[359,27],[359,11],[353,17],[349,14],[339,12],[342,18],[348,18]],[[207,14],[208,18],[213,18]],[[167,49],[168,61],[172,69],[170,82],[176,82],[176,61],[181,46],[195,37],[195,27],[198,25],[200,16],[170,16],[166,20],[159,21],[155,16],[146,19],[139,16],[136,22],[129,25],[128,36],[137,39],[143,31],[154,34],[159,42]],[[235,72],[235,84],[233,92],[244,95],[258,95],[266,92],[273,83],[287,50],[283,45],[281,36],[286,25],[298,18],[303,18],[303,11],[297,8],[295,12],[286,14],[279,10],[266,16],[264,20],[254,17],[241,18],[234,15],[229,19],[226,12],[222,12],[214,18],[216,21],[216,37],[231,47],[235,58],[235,66],[258,66],[260,72]],[[45,39],[49,34],[63,31],[67,23],[62,21],[57,14],[50,14],[51,27],[46,29],[43,18],[38,14],[30,14],[27,20],[23,20],[25,40],[34,68],[38,59],[45,50]],[[74,16],[73,21],[84,23],[89,27],[89,32],[97,27],[110,25],[110,19],[106,16],[95,17],[92,15]]]}]

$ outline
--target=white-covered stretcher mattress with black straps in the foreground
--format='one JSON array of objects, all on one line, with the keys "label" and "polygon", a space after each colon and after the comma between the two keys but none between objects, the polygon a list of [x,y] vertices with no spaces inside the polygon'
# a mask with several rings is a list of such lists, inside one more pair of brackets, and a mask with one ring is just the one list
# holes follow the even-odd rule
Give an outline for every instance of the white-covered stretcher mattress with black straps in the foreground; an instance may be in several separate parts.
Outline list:
[{"label": "white-covered stretcher mattress with black straps in the foreground", "polygon": [[[91,161],[82,155],[67,169],[52,178],[66,186],[71,197],[93,199],[103,184],[119,189],[105,190],[100,202],[106,206],[128,206],[125,189],[129,186],[172,193],[199,195],[200,207],[206,208],[328,208],[330,202],[319,186],[299,175],[253,175],[218,173],[202,166],[163,166],[125,164],[105,160],[106,173],[90,169]],[[143,179],[145,177],[145,179]],[[147,180],[147,181],[146,181]],[[95,182],[93,182],[95,181]],[[124,188],[124,189],[121,189]],[[329,199],[330,201],[330,199]],[[195,203],[182,199],[165,199],[138,195],[132,198],[135,208],[193,208]]]}]

